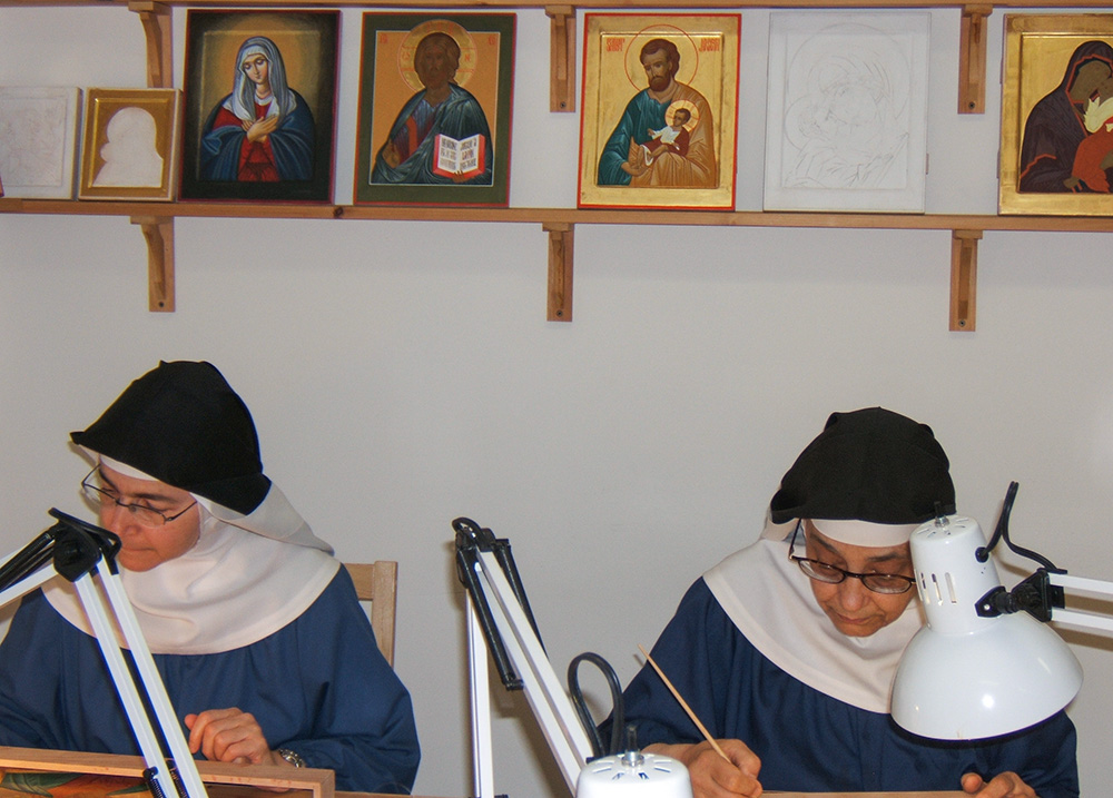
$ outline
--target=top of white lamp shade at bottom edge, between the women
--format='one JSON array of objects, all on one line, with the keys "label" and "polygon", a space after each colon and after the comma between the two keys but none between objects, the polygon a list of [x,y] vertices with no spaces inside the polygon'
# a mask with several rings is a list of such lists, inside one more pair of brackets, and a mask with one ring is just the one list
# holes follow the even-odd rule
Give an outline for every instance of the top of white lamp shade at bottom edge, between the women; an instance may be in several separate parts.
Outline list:
[{"label": "top of white lamp shade at bottom edge, between the women", "polygon": [[688,768],[672,757],[629,751],[580,771],[575,798],[692,798]]}]

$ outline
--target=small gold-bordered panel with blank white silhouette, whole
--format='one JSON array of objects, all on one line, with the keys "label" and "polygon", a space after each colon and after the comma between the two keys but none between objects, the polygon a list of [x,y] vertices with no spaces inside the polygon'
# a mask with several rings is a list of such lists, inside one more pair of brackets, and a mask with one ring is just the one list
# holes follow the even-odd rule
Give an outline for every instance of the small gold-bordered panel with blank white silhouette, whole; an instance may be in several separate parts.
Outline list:
[{"label": "small gold-bordered panel with blank white silhouette, whole", "polygon": [[180,107],[177,89],[87,89],[78,199],[174,199]]}]

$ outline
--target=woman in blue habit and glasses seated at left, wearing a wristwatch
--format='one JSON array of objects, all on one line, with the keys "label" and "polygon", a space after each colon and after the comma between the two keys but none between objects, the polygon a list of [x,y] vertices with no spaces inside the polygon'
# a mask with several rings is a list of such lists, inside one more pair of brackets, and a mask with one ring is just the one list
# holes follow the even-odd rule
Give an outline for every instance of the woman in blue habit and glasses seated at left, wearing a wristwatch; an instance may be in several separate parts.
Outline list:
[{"label": "woman in blue habit and glasses seated at left, wearing a wristwatch", "polygon": [[[160,363],[91,426],[82,483],[198,758],[329,768],[408,795],[406,688],[352,581],[263,473],[255,424],[208,363]],[[0,745],[139,752],[73,585],[24,597],[0,646]]]}]

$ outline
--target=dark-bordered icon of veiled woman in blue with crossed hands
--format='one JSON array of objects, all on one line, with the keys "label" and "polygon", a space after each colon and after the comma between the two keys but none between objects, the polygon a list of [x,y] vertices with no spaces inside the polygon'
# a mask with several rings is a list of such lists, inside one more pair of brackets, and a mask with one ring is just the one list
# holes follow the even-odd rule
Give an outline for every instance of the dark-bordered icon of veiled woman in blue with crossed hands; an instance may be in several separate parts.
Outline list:
[{"label": "dark-bordered icon of veiled woman in blue with crossed hands", "polygon": [[332,201],[338,48],[339,11],[189,9],[180,197]]}]

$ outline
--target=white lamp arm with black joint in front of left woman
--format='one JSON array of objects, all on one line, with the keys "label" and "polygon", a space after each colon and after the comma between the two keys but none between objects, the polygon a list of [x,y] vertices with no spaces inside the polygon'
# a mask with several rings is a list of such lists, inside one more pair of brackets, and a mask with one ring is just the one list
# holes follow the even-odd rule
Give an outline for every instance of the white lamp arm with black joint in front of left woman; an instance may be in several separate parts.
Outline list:
[{"label": "white lamp arm with black joint in front of left woman", "polygon": [[[139,622],[117,571],[119,538],[108,530],[58,510],[51,509],[49,512],[57,519],[57,523],[0,563],[0,607],[55,577],[61,575],[71,581],[89,615],[97,643],[139,743],[147,766],[142,776],[151,796],[206,798],[208,794],[197,772],[197,763],[186,745],[181,726],[170,706],[166,687],[155,668],[155,660],[139,630]],[[117,644],[110,612],[131,651],[139,676],[138,684]],[[155,735],[155,726],[144,706],[145,701],[154,711],[169,756]]]}]

